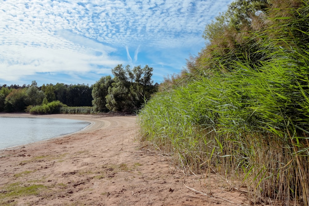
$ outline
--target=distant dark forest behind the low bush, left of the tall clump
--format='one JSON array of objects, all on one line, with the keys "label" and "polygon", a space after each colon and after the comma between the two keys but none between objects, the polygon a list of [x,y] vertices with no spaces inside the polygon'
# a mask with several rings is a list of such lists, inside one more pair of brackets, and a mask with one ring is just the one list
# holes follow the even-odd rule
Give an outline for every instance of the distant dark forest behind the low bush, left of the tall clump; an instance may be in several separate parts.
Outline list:
[{"label": "distant dark forest behind the low bush, left of the tall clump", "polygon": [[23,86],[0,85],[0,112],[24,111],[29,105],[38,105],[46,98],[48,102],[59,100],[70,107],[92,106],[92,85],[88,84],[43,84],[36,81]]}]

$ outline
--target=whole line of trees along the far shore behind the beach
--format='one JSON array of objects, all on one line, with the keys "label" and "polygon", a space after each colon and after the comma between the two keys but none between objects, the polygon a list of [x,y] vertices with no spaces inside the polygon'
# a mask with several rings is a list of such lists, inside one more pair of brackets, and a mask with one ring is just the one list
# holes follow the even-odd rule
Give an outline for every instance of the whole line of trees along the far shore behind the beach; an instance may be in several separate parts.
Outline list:
[{"label": "whole line of trees along the far shore behind the beach", "polygon": [[31,85],[0,85],[0,112],[22,112],[56,101],[69,107],[93,106],[95,112],[133,112],[156,91],[158,84],[153,85],[152,71],[148,65],[133,69],[117,65],[112,69],[113,77],[104,76],[91,86],[64,83],[38,86],[35,80]]}]

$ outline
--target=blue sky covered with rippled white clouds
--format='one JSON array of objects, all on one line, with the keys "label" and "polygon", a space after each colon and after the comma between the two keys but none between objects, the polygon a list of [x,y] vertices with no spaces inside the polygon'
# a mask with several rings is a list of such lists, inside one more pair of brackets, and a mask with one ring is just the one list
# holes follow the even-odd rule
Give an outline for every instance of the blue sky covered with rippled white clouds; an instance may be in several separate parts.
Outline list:
[{"label": "blue sky covered with rippled white clouds", "polygon": [[232,0],[0,0],[0,84],[89,84],[117,64],[185,68]]}]

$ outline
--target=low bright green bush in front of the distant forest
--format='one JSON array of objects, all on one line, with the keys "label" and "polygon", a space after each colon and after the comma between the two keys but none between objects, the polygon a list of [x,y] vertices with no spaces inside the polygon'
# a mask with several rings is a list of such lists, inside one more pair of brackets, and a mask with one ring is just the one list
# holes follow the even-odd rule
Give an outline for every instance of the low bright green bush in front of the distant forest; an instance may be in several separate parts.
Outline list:
[{"label": "low bright green bush in front of the distant forest", "polygon": [[30,114],[59,114],[61,107],[67,107],[59,100],[30,108]]}]

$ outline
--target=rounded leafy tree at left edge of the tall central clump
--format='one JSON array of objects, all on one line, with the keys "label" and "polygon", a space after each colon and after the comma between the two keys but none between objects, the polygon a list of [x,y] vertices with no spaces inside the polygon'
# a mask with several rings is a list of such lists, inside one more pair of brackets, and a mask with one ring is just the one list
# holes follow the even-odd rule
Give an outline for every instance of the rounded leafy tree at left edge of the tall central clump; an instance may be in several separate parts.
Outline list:
[{"label": "rounded leafy tree at left edge of the tall central clump", "polygon": [[106,96],[108,95],[108,88],[112,86],[114,80],[110,75],[101,77],[99,81],[95,82],[92,89],[92,105],[95,111],[108,111],[106,107]]}]

